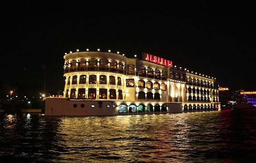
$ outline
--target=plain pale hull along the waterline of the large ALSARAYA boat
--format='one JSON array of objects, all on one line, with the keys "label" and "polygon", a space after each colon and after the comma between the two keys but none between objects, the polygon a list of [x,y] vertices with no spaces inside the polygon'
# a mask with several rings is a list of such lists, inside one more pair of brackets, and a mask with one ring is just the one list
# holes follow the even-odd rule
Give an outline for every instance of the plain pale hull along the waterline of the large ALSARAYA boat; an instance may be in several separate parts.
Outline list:
[{"label": "plain pale hull along the waterline of the large ALSARAYA boat", "polygon": [[[74,107],[76,104],[77,107]],[[95,105],[92,108],[92,104]],[[120,113],[118,106],[120,104],[125,105],[166,105],[167,111],[159,112],[129,112],[129,109],[126,113]],[[82,107],[84,105],[84,107]],[[99,105],[102,105],[100,108]],[[110,107],[107,108],[107,105]],[[113,107],[114,106],[114,107]],[[194,110],[191,112],[200,111]],[[201,110],[202,111],[202,110]],[[210,111],[210,110],[203,110]],[[212,110],[211,110],[212,111]],[[68,98],[46,98],[45,102],[45,115],[50,116],[97,116],[97,115],[139,115],[139,114],[166,114],[166,113],[178,113],[184,112],[182,103],[180,102],[156,102],[156,101],[114,101],[114,100],[70,100]],[[188,111],[185,111],[188,112]]]}]

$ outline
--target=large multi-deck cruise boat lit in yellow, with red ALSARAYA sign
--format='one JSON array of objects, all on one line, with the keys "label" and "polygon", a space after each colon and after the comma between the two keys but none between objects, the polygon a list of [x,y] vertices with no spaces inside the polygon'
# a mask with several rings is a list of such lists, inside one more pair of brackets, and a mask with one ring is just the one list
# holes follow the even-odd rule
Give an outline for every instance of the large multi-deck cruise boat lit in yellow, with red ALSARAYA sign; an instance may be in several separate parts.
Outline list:
[{"label": "large multi-deck cruise boat lit in yellow, with red ALSARAYA sign", "polygon": [[63,98],[46,98],[45,115],[165,114],[218,110],[216,78],[149,53],[77,51],[64,55]]}]

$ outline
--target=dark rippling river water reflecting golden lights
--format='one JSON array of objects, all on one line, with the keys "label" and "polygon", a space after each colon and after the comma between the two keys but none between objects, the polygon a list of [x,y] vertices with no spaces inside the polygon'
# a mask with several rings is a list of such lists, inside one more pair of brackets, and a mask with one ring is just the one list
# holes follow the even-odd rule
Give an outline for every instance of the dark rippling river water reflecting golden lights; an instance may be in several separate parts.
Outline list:
[{"label": "dark rippling river water reflecting golden lights", "polygon": [[0,162],[252,162],[256,109],[164,115],[0,114]]}]

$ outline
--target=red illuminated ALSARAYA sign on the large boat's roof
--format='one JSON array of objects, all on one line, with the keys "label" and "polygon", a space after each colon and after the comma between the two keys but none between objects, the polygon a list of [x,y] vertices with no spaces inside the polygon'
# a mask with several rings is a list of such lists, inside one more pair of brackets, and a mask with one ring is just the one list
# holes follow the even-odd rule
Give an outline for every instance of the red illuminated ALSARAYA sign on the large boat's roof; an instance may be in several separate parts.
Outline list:
[{"label": "red illuminated ALSARAYA sign on the large boat's roof", "polygon": [[157,63],[159,65],[172,67],[172,61],[154,56],[154,55],[149,54],[149,53],[142,53],[142,60],[152,62],[152,63]]}]

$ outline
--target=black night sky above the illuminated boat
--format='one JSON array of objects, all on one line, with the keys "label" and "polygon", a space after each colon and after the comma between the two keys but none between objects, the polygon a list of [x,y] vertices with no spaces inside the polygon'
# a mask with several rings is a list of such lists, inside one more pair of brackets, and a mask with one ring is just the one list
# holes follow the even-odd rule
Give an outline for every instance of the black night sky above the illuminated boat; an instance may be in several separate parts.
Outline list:
[{"label": "black night sky above the illuminated boat", "polygon": [[[3,2],[1,2],[3,3]],[[215,2],[217,3],[217,2]],[[0,82],[64,89],[63,55],[89,48],[147,52],[233,90],[255,88],[255,10],[250,4],[1,4]]]}]

